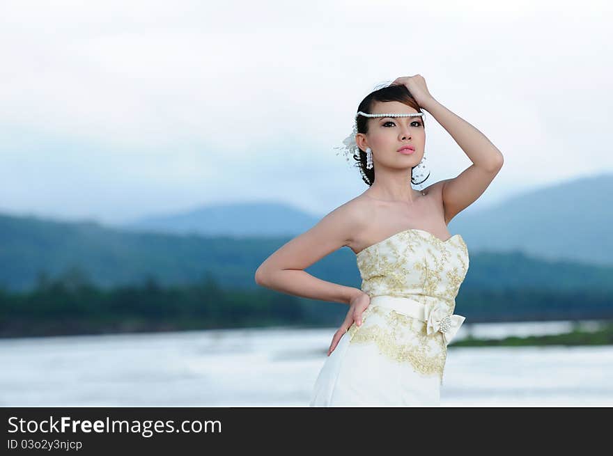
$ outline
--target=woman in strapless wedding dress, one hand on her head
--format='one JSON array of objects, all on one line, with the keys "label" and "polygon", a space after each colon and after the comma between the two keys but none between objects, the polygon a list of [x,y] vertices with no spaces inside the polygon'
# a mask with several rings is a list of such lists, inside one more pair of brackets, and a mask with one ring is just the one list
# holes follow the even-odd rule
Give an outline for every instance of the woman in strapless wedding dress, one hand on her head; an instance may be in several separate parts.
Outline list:
[{"label": "woman in strapless wedding dress, one hand on her head", "polygon": [[[423,112],[451,134],[472,165],[422,191]],[[502,153],[478,129],[437,102],[421,75],[400,77],[359,104],[346,140],[369,188],[281,246],[256,272],[259,285],[348,304],[313,388],[316,406],[439,406],[447,345],[464,321],[453,315],[469,264],[447,225],[500,171]],[[428,176],[426,176],[427,179]],[[304,271],[348,246],[362,288]]]}]

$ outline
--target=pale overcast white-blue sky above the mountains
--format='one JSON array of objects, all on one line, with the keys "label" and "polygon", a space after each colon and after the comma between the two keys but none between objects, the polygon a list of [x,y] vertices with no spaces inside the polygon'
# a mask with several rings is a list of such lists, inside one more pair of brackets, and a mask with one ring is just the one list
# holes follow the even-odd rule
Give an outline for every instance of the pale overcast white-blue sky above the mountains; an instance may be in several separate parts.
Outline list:
[{"label": "pale overcast white-blue sky above the mountains", "polygon": [[[504,167],[475,206],[613,171],[605,1],[0,3],[0,212],[122,223],[208,203],[325,214],[375,85],[421,74]],[[428,183],[470,165],[426,113]]]}]

